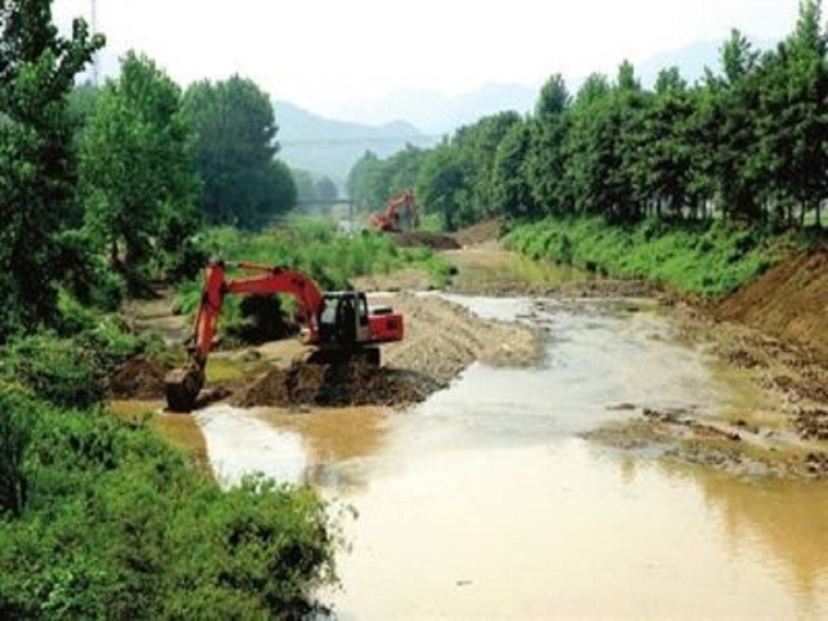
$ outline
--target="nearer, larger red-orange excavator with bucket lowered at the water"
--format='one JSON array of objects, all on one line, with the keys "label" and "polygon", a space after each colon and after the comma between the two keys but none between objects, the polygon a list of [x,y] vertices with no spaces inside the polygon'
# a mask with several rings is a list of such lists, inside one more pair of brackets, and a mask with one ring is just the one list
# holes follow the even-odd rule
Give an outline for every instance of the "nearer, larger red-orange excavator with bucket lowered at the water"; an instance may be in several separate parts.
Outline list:
[{"label": "nearer, larger red-orange excavator with bucket lowered at the water", "polygon": [[[228,278],[228,268],[248,276]],[[379,345],[403,338],[403,317],[388,306],[370,308],[364,292],[324,292],[299,270],[257,263],[210,261],[205,273],[202,302],[186,341],[188,362],[165,378],[167,406],[191,412],[205,382],[207,356],[212,349],[221,305],[227,295],[287,293],[299,303],[304,322],[301,340],[314,348],[312,364],[362,361],[379,366]]]}]

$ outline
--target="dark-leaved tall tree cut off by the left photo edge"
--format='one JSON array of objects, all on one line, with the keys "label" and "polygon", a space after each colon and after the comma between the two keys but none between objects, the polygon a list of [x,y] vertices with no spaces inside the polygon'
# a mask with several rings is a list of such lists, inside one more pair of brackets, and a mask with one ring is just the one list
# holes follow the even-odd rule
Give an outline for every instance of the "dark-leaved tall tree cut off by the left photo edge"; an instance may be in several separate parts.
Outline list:
[{"label": "dark-leaved tall tree cut off by the left photo edge", "polygon": [[66,96],[104,46],[75,20],[69,38],[50,0],[0,4],[0,342],[56,318],[59,233],[77,216]]}]

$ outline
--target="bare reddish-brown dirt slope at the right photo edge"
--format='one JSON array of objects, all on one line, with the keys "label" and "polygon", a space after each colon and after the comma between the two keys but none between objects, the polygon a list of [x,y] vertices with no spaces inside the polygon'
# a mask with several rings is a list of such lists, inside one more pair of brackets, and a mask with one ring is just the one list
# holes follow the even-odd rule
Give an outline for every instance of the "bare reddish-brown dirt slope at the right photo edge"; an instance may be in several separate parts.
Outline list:
[{"label": "bare reddish-brown dirt slope at the right photo edge", "polygon": [[828,357],[828,251],[803,254],[775,267],[724,300],[716,316]]}]

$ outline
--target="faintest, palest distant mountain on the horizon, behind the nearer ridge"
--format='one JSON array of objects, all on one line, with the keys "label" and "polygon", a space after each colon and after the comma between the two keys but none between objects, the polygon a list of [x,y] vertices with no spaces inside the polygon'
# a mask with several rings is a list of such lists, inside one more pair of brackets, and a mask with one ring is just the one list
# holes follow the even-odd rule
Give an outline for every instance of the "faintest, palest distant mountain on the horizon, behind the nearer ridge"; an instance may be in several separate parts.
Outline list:
[{"label": "faintest, palest distant mountain on the horizon, behind the nearer ridge", "polygon": [[535,107],[538,89],[520,84],[486,84],[462,95],[430,90],[395,90],[377,99],[353,104],[343,113],[358,119],[406,119],[427,134],[451,134],[482,117],[514,110],[521,114]]}]

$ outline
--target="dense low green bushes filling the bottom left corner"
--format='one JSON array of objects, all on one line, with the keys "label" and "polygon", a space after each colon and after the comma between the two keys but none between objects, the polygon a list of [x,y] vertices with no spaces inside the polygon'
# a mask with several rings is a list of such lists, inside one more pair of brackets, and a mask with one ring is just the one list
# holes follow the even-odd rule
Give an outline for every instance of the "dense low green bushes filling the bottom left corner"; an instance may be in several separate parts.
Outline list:
[{"label": "dense low green bushes filling the bottom left corner", "polygon": [[0,618],[296,619],[336,580],[312,490],[222,491],[143,424],[0,404],[32,425],[28,499],[0,516]]}]

